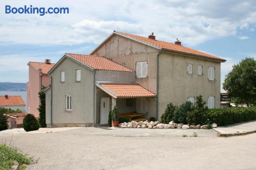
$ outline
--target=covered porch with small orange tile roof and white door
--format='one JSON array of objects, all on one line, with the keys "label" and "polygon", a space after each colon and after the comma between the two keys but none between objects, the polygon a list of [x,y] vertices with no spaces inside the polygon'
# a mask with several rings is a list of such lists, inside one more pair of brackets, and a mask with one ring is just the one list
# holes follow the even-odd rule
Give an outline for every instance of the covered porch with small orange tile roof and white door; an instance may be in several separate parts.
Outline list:
[{"label": "covered porch with small orange tile roof and white door", "polygon": [[119,117],[131,119],[156,115],[156,94],[137,83],[96,83],[96,119],[108,124],[108,115],[115,106]]}]

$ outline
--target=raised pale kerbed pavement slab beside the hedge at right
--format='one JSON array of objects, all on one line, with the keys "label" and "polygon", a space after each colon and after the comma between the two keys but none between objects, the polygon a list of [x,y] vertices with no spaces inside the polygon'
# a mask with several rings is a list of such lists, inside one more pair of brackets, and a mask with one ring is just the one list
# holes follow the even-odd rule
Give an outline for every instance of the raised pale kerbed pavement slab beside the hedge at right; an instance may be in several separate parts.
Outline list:
[{"label": "raised pale kerbed pavement slab beside the hedge at right", "polygon": [[256,120],[215,128],[223,135],[238,135],[256,132]]}]

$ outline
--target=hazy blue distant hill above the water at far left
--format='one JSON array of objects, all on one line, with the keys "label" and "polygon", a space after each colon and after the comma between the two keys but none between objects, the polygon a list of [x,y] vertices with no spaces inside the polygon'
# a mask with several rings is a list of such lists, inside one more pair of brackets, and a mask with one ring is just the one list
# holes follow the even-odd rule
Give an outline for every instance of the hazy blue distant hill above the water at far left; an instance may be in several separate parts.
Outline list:
[{"label": "hazy blue distant hill above the water at far left", "polygon": [[0,82],[0,91],[26,91],[26,83]]}]

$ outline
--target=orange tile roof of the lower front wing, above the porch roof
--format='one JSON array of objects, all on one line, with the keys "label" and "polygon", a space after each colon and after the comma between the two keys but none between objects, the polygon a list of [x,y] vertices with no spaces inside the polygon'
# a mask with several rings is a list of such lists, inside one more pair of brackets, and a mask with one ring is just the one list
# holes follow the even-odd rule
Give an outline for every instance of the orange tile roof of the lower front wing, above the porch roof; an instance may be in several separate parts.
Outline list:
[{"label": "orange tile roof of the lower front wing, above the porch roof", "polygon": [[94,69],[134,72],[133,70],[103,56],[71,53],[66,53],[66,55],[73,57],[74,59],[89,65]]}]

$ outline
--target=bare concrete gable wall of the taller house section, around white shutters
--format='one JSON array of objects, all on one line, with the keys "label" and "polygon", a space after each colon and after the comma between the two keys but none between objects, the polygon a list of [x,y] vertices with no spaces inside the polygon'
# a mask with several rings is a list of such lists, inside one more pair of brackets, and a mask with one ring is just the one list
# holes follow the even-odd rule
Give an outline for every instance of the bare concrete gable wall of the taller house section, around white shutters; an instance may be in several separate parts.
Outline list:
[{"label": "bare concrete gable wall of the taller house section, around white shutters", "polygon": [[148,78],[137,78],[136,81],[143,87],[157,92],[157,54],[158,51],[148,45],[138,43],[136,41],[114,35],[109,41],[103,44],[94,54],[136,70],[136,62],[148,62]]}]

